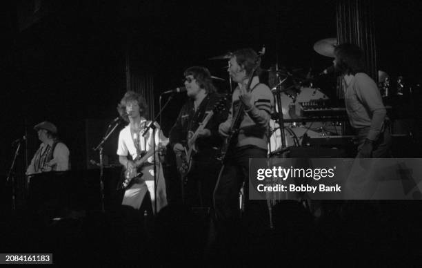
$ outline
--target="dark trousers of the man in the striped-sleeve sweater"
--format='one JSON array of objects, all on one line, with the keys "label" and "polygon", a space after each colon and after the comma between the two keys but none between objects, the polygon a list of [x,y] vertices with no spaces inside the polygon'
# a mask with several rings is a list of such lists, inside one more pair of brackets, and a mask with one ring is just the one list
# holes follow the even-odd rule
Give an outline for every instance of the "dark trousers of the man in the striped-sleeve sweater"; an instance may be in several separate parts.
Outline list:
[{"label": "dark trousers of the man in the striped-sleeve sweater", "polygon": [[[243,146],[234,150],[221,168],[214,189],[214,212],[219,236],[230,237],[231,231],[242,224],[248,233],[263,231],[269,226],[265,200],[249,200],[249,159],[267,158],[267,150]],[[244,190],[245,212],[240,218],[239,191]]]}]

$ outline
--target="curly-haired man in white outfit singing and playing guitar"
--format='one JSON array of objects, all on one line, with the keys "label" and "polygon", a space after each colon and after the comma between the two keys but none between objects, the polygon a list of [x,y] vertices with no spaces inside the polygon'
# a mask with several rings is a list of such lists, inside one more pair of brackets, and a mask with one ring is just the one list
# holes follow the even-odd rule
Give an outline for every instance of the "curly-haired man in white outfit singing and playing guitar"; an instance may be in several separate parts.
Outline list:
[{"label": "curly-haired man in white outfit singing and playing guitar", "polygon": [[[128,126],[123,128],[119,134],[119,146],[117,148],[117,155],[119,155],[119,162],[125,167],[125,170],[136,169],[134,160],[139,158],[141,153],[152,152],[153,139],[152,133],[155,134],[155,145],[158,151],[159,147],[165,146],[168,140],[164,137],[159,125],[154,123],[155,129],[150,128],[148,133],[143,136],[143,130],[150,124],[150,121],[145,119],[147,111],[147,104],[145,99],[133,91],[125,93],[121,103],[117,107],[120,115],[129,122]],[[150,193],[152,210],[154,208],[154,166],[153,156],[148,157],[148,160],[142,163],[143,176],[141,178],[134,178],[134,182],[130,188],[126,189],[123,196],[123,205],[139,209],[143,202],[147,191]],[[159,157],[156,155],[156,171],[157,171],[157,211],[160,211],[167,205],[167,198],[165,194],[165,181],[163,176],[163,169],[159,163]]]}]

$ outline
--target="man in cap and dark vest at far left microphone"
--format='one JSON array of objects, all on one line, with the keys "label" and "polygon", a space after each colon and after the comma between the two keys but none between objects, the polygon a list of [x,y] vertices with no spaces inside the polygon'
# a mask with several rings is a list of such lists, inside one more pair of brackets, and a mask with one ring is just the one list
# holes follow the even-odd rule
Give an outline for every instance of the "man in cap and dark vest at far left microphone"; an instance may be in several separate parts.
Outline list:
[{"label": "man in cap and dark vest at far left microphone", "polygon": [[51,122],[41,122],[34,126],[41,140],[39,149],[32,157],[26,175],[48,171],[67,171],[69,169],[69,149],[57,140],[57,127]]}]

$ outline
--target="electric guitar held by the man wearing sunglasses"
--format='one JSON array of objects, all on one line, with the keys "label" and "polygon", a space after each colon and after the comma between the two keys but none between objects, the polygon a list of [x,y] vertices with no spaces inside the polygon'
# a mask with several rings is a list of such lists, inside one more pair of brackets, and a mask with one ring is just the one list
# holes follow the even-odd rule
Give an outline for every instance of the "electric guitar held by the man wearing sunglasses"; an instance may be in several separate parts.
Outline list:
[{"label": "electric guitar held by the man wearing sunglasses", "polygon": [[192,156],[198,151],[197,147],[195,146],[195,142],[199,137],[199,133],[205,128],[205,126],[207,126],[208,122],[215,113],[219,113],[220,111],[224,110],[225,102],[226,99],[223,97],[219,99],[216,104],[214,104],[212,111],[205,112],[207,115],[199,124],[197,130],[195,132],[188,132],[188,142],[186,146],[184,146],[185,151],[183,153],[176,154],[177,170],[179,171],[183,182],[186,182],[185,178],[188,175],[190,169],[192,169]]}]

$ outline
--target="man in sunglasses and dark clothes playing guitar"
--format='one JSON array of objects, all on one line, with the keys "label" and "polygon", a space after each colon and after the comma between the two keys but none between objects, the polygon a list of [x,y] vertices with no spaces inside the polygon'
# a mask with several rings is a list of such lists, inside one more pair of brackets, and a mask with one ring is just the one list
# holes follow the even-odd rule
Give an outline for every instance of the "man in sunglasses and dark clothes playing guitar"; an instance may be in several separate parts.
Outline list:
[{"label": "man in sunglasses and dark clothes playing guitar", "polygon": [[[192,135],[221,99],[212,84],[210,71],[201,66],[193,66],[184,72],[188,102],[183,105],[177,121],[170,131],[170,144],[176,155],[188,150],[188,135]],[[223,140],[219,137],[218,127],[227,116],[228,111],[214,113],[208,124],[199,131],[195,144],[196,152],[192,156],[192,168],[183,182],[182,199],[188,207],[210,208],[212,191],[219,173],[217,153]]]}]

